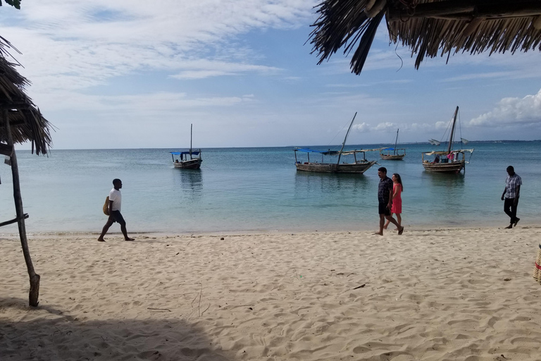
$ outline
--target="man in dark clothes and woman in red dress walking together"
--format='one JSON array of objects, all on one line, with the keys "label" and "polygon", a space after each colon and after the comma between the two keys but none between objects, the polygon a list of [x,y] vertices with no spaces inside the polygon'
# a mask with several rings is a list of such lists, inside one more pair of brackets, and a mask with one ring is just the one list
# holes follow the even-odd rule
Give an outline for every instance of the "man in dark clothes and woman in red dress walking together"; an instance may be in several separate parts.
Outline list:
[{"label": "man in dark clothes and woman in red dress walking together", "polygon": [[[380,214],[380,231],[378,235],[383,235],[383,229],[387,229],[390,223],[397,226],[398,234],[404,232],[402,226],[402,179],[398,173],[394,173],[391,178],[387,177],[387,169],[381,167],[378,169],[380,184],[378,185],[378,212]],[[397,215],[397,220],[392,218],[392,214]],[[385,222],[387,219],[387,222]]]}]

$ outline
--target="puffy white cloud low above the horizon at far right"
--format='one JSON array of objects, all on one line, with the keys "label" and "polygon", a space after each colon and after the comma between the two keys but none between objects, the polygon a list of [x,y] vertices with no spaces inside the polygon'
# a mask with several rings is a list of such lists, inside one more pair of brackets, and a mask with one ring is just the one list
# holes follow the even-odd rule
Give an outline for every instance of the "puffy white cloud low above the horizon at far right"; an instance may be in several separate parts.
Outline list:
[{"label": "puffy white cloud low above the horizon at far right", "polygon": [[504,98],[495,109],[469,121],[470,126],[505,127],[541,125],[541,90],[521,98]]}]

